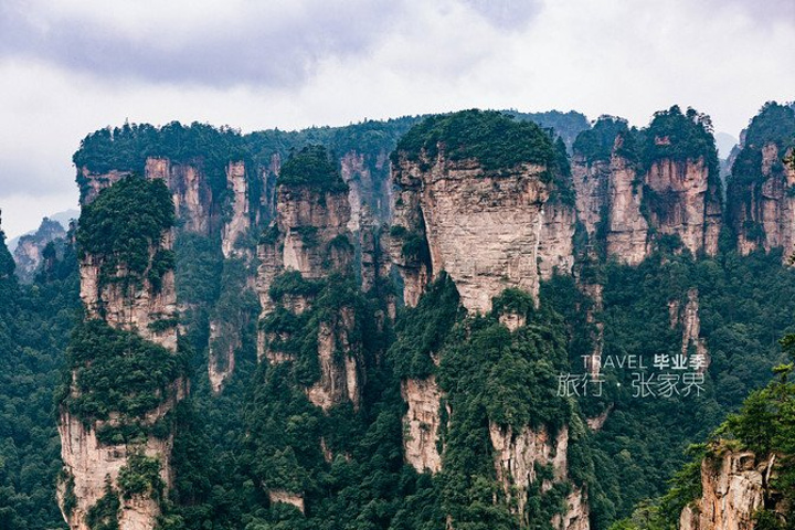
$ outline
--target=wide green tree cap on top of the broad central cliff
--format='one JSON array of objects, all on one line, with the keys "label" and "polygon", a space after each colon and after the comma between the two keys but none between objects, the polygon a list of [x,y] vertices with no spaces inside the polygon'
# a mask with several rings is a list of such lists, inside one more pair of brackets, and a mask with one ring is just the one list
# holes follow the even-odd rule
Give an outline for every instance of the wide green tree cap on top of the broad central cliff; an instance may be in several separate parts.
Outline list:
[{"label": "wide green tree cap on top of the broad central cliff", "polygon": [[517,121],[494,110],[462,110],[425,118],[398,142],[392,155],[420,160],[424,152],[434,159],[439,146],[451,160],[477,159],[487,171],[511,169],[520,163],[555,167],[555,150],[549,136],[531,121]]}]

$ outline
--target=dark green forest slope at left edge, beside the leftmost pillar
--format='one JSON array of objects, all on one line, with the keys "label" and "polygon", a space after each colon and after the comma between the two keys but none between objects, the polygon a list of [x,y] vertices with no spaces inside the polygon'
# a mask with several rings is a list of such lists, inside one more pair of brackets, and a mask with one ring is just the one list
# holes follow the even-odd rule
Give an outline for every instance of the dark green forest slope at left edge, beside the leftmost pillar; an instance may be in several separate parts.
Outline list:
[{"label": "dark green forest slope at left edge, beside the leftmost pillar", "polygon": [[[0,528],[65,528],[55,504],[61,473],[52,389],[80,308],[74,248],[52,256],[31,285],[13,276],[0,232]],[[68,484],[67,484],[68,485]],[[68,488],[67,488],[68,490]]]}]

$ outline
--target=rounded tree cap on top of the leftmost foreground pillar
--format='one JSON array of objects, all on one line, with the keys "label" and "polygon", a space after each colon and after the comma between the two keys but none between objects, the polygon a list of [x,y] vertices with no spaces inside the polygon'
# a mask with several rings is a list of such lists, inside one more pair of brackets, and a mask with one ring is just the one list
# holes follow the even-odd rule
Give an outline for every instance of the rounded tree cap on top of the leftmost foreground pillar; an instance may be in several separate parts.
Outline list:
[{"label": "rounded tree cap on top of the leftmost foreground pillar", "polygon": [[173,224],[166,184],[128,177],[83,208],[77,230],[81,257],[87,254],[98,261],[102,284],[115,280],[117,267],[125,266],[124,280],[140,280],[146,273],[159,287],[162,275],[173,266],[173,255],[161,251],[150,259],[150,253]]}]

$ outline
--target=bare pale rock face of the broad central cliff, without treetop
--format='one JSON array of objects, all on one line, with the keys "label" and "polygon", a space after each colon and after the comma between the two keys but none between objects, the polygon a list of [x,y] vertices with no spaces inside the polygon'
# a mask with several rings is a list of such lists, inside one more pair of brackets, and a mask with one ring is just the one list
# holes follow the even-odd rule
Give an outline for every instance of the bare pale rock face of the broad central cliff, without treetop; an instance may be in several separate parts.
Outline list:
[{"label": "bare pale rock face of the broad central cliff, without treetop", "polygon": [[[399,227],[400,236],[392,256],[403,277],[406,305],[416,304],[425,283],[441,271],[449,274],[471,311],[490,310],[491,298],[508,287],[537,296],[549,197],[542,181],[545,170],[521,165],[487,173],[477,160],[448,160],[444,152],[422,162],[401,158],[392,176],[392,232]],[[563,222],[565,215],[551,218]],[[550,247],[545,253],[550,264],[564,254]]]}]

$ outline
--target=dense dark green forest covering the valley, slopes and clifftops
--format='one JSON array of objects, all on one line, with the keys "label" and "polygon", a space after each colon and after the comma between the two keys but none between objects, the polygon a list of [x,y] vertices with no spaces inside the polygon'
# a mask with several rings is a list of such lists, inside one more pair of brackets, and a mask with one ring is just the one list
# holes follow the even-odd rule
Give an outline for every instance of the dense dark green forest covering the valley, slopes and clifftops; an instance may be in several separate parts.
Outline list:
[{"label": "dense dark green forest covering the valley, slopes and clifftops", "polygon": [[[76,233],[44,250],[32,283],[18,282],[0,232],[0,528],[66,528],[55,501],[62,469],[59,405],[88,423],[121,413],[123,422],[97,432],[103,443],[135,446],[146,436],[173,434],[174,477],[168,492],[159,464],[132,453],[120,490],[108,486],[92,511],[94,530],[118,528],[120,499],[135,495],[161,501],[161,530],[430,530],[445,528],[448,517],[456,529],[551,529],[574,491],[587,491],[591,528],[664,530],[675,528],[681,508],[700,495],[701,459],[727,444],[783,455],[777,488],[795,497],[795,341],[789,335],[795,333],[795,271],[782,266],[780,248],[742,255],[729,226],[716,256],[693,256],[676,237],[667,237],[638,266],[594,259],[576,276],[542,282],[538,304],[522,290],[506,289],[489,312],[473,315],[444,272],[416,307],[390,305],[401,287],[394,273],[364,290],[359,240],[346,247],[357,256],[349,267],[324,277],[277,274],[267,293],[275,308],[258,318],[251,279],[262,257],[257,247],[284,237],[273,212],[252,210],[258,224],[251,237],[237,242],[239,254],[224,257],[220,231],[182,230],[165,183],[140,178],[147,157],[193,163],[203,169],[213,200],[223,204],[231,193],[229,162],[263,168],[278,156],[276,186],[312,190],[327,200],[348,192],[340,168],[351,151],[364,155],[378,194],[386,193],[390,153],[402,150],[420,160],[442,147],[452,159],[480,160],[486,173],[544,165],[545,179],[573,204],[566,147],[589,162],[607,160],[622,137],[623,153],[638,170],[661,158],[702,157],[712,186],[720,189],[709,117],[692,109],[656,113],[643,129],[614,117],[591,127],[576,113],[508,114],[515,117],[467,110],[250,135],[201,124],[125,125],[87,136],[74,157],[84,197],[88,177],[83,168],[132,174],[83,209]],[[770,141],[783,153],[793,138],[792,107],[766,105],[750,125],[732,178],[759,179],[753,173],[759,163],[748,160],[759,158]],[[250,182],[256,180],[253,174],[246,173]],[[262,204],[264,188],[252,184],[250,191],[251,204]],[[229,206],[220,210],[229,219]],[[381,215],[389,219],[386,211]],[[153,242],[171,229],[173,250],[149,255]],[[316,235],[311,227],[296,233],[305,244]],[[333,244],[351,243],[339,239]],[[118,282],[115,271],[125,265],[125,288],[130,289],[147,282],[157,290],[163,275],[174,271],[182,331],[178,354],[135,332],[84,319],[78,262],[86,255],[105,256],[100,284]],[[602,287],[598,306],[577,284],[584,280]],[[710,359],[698,393],[638,399],[634,373],[605,368],[600,395],[560,394],[560,374],[584,372],[583,357],[594,351],[596,340],[605,358],[645,359],[646,375],[655,372],[657,356],[676,358],[682,352],[683,324],[671,322],[670,307],[685,307],[695,296]],[[290,300],[299,298],[311,304],[299,314],[288,310]],[[322,378],[317,330],[339,326],[340,308],[356,322],[346,340],[367,378],[360,403],[324,410],[305,389]],[[385,317],[391,310],[394,319]],[[506,315],[521,325],[509,329]],[[237,340],[213,335],[211,324],[234,329]],[[271,347],[289,361],[257,359],[259,335],[274,337]],[[219,392],[208,364],[215,362],[211,351],[229,348],[235,367]],[[73,377],[78,399],[68,393]],[[190,380],[190,395],[168,422],[136,422],[161,403],[178,378]],[[436,474],[418,473],[403,453],[402,384],[427,378],[438,382],[444,396],[443,466]],[[586,421],[601,415],[603,426],[590,428]],[[495,470],[489,443],[495,426],[515,432],[529,426],[550,437],[568,433],[568,476],[559,479],[551,465],[540,466],[540,480],[530,485],[520,517],[513,492],[502,488]],[[274,490],[300,497],[301,508],[274,501],[268,496]],[[760,529],[785,528],[775,515],[763,510],[757,517]]]}]

